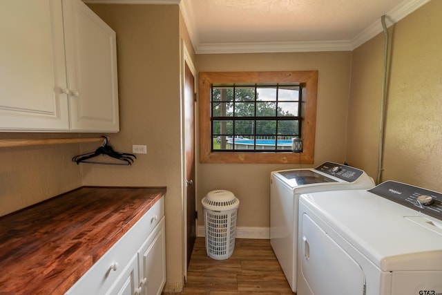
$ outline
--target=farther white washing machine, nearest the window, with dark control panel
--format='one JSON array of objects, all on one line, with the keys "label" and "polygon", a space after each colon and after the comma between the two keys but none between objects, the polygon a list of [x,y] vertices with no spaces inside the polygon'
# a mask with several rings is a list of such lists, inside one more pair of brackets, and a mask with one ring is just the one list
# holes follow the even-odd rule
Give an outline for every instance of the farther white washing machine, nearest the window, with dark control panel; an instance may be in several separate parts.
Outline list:
[{"label": "farther white washing machine, nearest the window, with dark control panel", "polygon": [[369,189],[374,181],[351,166],[325,162],[316,168],[271,172],[270,243],[293,292],[296,292],[298,200],[301,193]]}]

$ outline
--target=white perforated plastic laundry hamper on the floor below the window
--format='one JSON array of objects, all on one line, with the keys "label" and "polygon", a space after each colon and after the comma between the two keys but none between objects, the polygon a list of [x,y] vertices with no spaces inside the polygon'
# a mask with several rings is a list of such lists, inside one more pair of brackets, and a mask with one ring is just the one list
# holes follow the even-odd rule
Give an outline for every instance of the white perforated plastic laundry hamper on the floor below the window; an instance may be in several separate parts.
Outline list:
[{"label": "white perforated plastic laundry hamper on the floor below the window", "polygon": [[231,191],[209,191],[202,198],[207,255],[216,260],[233,254],[236,237],[236,216],[240,200]]}]

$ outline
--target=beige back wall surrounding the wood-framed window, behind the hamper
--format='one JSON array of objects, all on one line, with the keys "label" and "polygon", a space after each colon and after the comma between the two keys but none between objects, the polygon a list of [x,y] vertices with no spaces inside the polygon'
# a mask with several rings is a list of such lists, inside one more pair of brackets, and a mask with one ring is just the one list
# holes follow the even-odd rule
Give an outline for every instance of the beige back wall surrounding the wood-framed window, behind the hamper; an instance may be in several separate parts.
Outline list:
[{"label": "beige back wall surrounding the wood-framed window, behind the hamper", "polygon": [[[199,72],[245,70],[318,70],[316,166],[345,160],[345,124],[350,82],[350,52],[197,55]],[[199,97],[198,99],[204,99]],[[303,165],[303,167],[307,165]],[[269,227],[270,172],[300,168],[299,164],[198,164],[201,199],[213,189],[233,191],[240,199],[238,227]],[[204,220],[198,220],[199,225]]]}]

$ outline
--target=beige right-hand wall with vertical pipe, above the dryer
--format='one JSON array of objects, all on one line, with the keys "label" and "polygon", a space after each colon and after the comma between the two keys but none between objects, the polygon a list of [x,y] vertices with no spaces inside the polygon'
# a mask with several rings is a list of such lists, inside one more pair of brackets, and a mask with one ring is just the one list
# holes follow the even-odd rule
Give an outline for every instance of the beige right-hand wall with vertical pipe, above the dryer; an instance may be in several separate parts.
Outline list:
[{"label": "beige right-hand wall with vertical pipe, above the dryer", "polygon": [[[442,1],[433,0],[390,28],[381,181],[442,191]],[[383,34],[356,48],[349,99],[347,161],[377,173]]]}]

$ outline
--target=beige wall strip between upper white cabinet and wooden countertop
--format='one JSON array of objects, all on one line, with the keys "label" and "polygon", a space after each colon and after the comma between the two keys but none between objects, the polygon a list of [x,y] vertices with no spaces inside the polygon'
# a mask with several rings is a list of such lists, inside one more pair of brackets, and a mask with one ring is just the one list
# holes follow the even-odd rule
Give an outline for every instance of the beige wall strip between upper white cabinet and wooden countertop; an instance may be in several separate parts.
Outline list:
[{"label": "beige wall strip between upper white cabinet and wooden countertop", "polygon": [[[0,140],[77,136],[0,132]],[[71,161],[79,153],[79,144],[0,148],[0,216],[81,187],[81,167]]]}]

